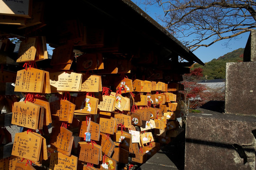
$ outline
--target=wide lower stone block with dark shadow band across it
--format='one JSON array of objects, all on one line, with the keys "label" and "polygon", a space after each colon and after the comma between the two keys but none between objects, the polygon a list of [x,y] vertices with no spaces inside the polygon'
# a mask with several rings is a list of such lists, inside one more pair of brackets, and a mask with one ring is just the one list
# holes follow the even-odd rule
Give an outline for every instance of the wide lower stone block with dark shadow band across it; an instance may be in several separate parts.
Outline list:
[{"label": "wide lower stone block with dark shadow band across it", "polygon": [[255,170],[256,117],[199,110],[187,117],[185,170]]}]

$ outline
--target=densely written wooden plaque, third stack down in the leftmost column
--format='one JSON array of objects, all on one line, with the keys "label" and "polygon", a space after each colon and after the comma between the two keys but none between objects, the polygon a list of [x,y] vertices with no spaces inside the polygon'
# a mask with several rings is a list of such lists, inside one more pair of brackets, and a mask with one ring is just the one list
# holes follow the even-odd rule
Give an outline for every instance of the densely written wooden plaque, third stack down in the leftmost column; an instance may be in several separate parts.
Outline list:
[{"label": "densely written wooden plaque, third stack down in the leftmost column", "polygon": [[41,107],[32,102],[14,102],[11,123],[21,127],[37,129]]}]

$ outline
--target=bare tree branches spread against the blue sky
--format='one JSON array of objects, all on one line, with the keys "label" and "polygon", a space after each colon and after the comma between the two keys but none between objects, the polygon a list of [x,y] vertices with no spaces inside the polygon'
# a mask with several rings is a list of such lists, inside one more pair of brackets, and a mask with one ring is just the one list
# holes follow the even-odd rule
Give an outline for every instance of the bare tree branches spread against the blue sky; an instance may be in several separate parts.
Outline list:
[{"label": "bare tree branches spread against the blue sky", "polygon": [[256,28],[255,0],[145,0],[158,3],[164,27],[191,51]]}]

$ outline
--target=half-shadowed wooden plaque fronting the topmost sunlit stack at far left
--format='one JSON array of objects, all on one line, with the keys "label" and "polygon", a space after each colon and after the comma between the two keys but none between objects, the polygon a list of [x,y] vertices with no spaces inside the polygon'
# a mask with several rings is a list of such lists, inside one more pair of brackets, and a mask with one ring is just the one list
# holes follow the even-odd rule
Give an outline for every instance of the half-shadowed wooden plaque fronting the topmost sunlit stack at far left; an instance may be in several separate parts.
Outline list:
[{"label": "half-shadowed wooden plaque fronting the topmost sunlit stack at far left", "polygon": [[19,45],[16,62],[34,61],[37,52],[37,38],[29,37]]}]

